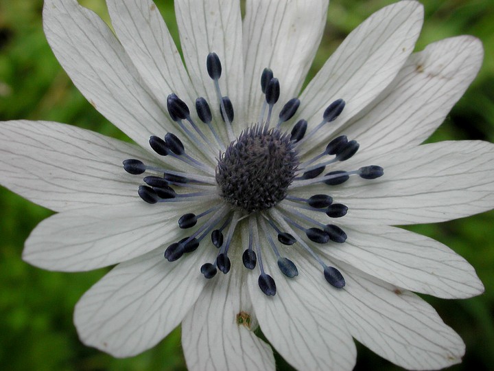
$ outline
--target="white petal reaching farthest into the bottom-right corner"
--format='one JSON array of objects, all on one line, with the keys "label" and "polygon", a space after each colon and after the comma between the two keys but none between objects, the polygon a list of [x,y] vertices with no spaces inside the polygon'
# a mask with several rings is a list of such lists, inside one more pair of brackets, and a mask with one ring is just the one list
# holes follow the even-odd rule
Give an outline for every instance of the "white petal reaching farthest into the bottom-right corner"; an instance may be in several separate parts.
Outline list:
[{"label": "white petal reaching farthest into the bottom-right corner", "polygon": [[462,339],[420,297],[350,267],[342,274],[344,289],[329,287],[327,293],[364,346],[410,370],[436,370],[461,361]]}]

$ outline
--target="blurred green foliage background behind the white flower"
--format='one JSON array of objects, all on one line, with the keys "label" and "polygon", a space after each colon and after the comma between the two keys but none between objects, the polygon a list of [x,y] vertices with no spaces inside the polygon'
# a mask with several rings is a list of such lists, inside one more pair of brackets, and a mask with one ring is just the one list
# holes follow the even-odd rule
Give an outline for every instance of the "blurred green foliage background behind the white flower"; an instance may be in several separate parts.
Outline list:
[{"label": "blurred green foliage background behind the white flower", "polygon": [[[108,21],[104,1],[81,0]],[[172,1],[156,1],[178,41]],[[392,1],[333,0],[311,76],[342,39],[375,10]],[[430,139],[494,142],[494,1],[423,1],[425,25],[417,50],[441,38],[472,34],[484,43],[478,78]],[[41,24],[41,0],[0,0],[0,120],[67,122],[99,133],[124,136],[73,87],[49,49]],[[96,185],[95,185],[96,186]],[[494,191],[494,190],[493,190]],[[57,273],[21,260],[23,242],[51,212],[0,188],[0,370],[183,370],[180,330],[130,359],[83,346],[72,324],[73,306],[106,269]],[[467,344],[461,365],[451,370],[494,368],[494,212],[410,229],[445,243],[467,258],[486,293],[470,300],[425,297]],[[279,369],[290,370],[277,358]],[[359,346],[357,370],[397,370]]]}]

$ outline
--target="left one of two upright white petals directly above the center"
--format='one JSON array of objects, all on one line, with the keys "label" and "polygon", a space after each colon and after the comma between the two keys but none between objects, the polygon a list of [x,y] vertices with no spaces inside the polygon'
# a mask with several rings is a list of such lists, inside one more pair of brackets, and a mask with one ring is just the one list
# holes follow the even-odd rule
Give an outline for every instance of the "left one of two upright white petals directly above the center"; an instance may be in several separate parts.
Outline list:
[{"label": "left one of two upright white petals directly above the center", "polygon": [[185,64],[196,91],[207,98],[211,109],[219,116],[219,104],[213,80],[209,78],[206,58],[215,52],[222,63],[220,87],[233,103],[233,125],[242,128],[244,122],[244,58],[242,54],[242,19],[240,2],[231,0],[175,1]]}]

